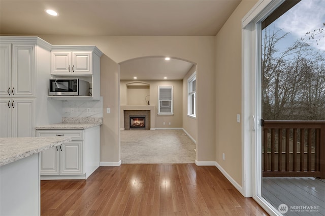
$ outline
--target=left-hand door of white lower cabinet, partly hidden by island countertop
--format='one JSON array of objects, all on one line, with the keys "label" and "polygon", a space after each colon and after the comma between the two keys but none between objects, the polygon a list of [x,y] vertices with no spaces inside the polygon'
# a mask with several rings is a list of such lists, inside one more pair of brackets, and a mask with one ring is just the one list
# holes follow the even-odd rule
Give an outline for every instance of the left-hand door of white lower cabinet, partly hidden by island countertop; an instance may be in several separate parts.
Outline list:
[{"label": "left-hand door of white lower cabinet, partly hidden by island countertop", "polygon": [[41,152],[41,175],[59,175],[60,146]]}]

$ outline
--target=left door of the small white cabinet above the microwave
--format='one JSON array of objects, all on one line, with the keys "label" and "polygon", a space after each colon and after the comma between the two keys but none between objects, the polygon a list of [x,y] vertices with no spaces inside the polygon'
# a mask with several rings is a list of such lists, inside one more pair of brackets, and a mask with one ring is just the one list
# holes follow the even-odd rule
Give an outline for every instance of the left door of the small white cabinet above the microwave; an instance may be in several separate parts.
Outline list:
[{"label": "left door of the small white cabinet above the microwave", "polygon": [[71,52],[51,52],[51,73],[70,74],[72,73]]}]

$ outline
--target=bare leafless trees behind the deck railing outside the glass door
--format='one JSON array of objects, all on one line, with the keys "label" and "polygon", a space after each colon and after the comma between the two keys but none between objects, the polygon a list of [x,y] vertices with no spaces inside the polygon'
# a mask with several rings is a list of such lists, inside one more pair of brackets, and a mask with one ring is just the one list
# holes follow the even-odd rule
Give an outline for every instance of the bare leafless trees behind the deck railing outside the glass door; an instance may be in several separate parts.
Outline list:
[{"label": "bare leafless trees behind the deck railing outside the glass door", "polygon": [[267,120],[325,119],[324,52],[299,39],[280,50],[289,33],[266,28],[262,43],[262,108]]}]

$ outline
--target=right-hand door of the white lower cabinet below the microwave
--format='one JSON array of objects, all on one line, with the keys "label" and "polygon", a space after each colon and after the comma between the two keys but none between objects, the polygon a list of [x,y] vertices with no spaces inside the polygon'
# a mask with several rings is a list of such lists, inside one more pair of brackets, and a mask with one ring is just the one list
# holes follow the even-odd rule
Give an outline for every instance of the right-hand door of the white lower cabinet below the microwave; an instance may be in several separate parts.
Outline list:
[{"label": "right-hand door of the white lower cabinet below the microwave", "polygon": [[62,144],[60,175],[83,174],[83,141]]}]

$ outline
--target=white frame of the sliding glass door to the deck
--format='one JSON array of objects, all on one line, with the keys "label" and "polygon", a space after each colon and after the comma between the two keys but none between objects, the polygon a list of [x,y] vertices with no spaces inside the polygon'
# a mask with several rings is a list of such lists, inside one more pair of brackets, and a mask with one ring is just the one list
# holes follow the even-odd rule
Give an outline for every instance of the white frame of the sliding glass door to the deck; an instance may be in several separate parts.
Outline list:
[{"label": "white frame of the sliding glass door to the deck", "polygon": [[284,0],[259,0],[242,19],[242,185],[243,195],[253,197],[271,215],[281,213],[262,197],[261,21]]}]

